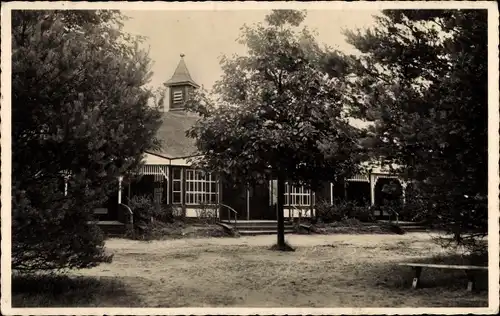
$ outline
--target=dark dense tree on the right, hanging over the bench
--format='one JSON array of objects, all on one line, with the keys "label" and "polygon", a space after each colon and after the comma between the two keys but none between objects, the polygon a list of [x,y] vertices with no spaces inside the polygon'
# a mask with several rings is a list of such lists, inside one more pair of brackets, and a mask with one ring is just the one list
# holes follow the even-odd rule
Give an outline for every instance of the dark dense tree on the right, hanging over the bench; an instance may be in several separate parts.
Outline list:
[{"label": "dark dense tree on the right, hanging over the bench", "polygon": [[376,121],[374,151],[414,182],[427,219],[458,244],[487,234],[487,12],[387,10],[346,32],[363,54],[352,115]]}]

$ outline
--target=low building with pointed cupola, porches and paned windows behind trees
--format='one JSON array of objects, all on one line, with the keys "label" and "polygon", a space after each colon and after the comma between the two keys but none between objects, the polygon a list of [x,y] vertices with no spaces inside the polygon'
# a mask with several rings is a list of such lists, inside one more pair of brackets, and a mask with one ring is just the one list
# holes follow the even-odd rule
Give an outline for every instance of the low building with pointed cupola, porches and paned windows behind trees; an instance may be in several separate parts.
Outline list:
[{"label": "low building with pointed cupola, porches and paned windows behind trees", "polygon": [[[249,188],[233,186],[221,181],[216,175],[194,169],[189,163],[189,158],[196,156],[196,146],[194,140],[185,133],[197,117],[184,111],[183,106],[189,94],[199,85],[191,78],[184,55],[181,55],[172,78],[165,86],[169,105],[163,113],[163,124],[158,131],[162,149],[145,153],[139,182],[122,185],[120,178],[121,189],[114,201],[126,204],[133,195],[149,194],[156,203],[178,206],[187,217],[197,217],[204,206],[212,205],[221,218],[227,218],[231,215],[228,212],[232,212],[238,219],[276,219],[275,181]],[[367,175],[347,179],[342,188],[335,187],[333,183],[326,184],[321,192],[287,184],[285,216],[298,217],[299,213],[303,217],[311,216],[317,201],[322,199],[332,203],[338,196],[360,201],[364,198],[366,203],[374,205],[383,197],[381,187],[390,181],[399,183],[404,193],[404,181],[381,168],[375,168]],[[118,205],[116,202],[112,203]]]}]

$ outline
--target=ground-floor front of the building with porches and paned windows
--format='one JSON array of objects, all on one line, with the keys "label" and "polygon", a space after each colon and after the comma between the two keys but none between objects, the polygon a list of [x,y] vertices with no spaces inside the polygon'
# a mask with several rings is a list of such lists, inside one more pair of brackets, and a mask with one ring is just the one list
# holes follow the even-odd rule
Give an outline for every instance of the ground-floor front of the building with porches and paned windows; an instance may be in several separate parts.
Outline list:
[{"label": "ground-floor front of the building with porches and paned windows", "polygon": [[[133,217],[128,207],[131,199],[140,195],[151,197],[157,205],[177,207],[188,218],[200,218],[210,213],[219,222],[277,219],[275,180],[253,186],[234,185],[187,164],[144,165],[138,174],[117,180],[117,192],[110,195],[106,205],[95,210],[100,221],[125,223],[124,218]],[[340,186],[327,183],[317,192],[286,183],[284,215],[290,221],[314,217],[317,200],[333,204],[338,197],[365,205],[380,205],[386,195],[382,188],[387,183],[400,188],[404,201],[406,183],[396,175],[357,175],[346,179]],[[382,209],[375,210],[373,215],[382,219],[390,214]]]}]

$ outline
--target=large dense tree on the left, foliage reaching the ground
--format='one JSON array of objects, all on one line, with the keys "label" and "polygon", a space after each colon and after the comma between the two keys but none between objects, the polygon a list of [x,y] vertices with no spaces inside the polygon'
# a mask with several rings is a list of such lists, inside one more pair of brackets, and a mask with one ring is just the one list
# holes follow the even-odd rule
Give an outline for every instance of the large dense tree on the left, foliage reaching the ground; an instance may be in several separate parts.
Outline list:
[{"label": "large dense tree on the left, foliage reaching the ground", "polygon": [[[110,260],[92,210],[155,148],[147,54],[115,11],[12,12],[12,267]],[[69,192],[64,194],[63,176]]]}]

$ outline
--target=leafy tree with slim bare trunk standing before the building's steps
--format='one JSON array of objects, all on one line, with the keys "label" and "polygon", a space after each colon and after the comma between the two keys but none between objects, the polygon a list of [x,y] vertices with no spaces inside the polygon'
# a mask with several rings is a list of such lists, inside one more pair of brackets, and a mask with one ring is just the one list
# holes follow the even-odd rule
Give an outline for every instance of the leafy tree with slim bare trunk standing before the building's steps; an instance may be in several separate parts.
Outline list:
[{"label": "leafy tree with slim bare trunk standing before the building's steps", "polygon": [[280,250],[285,181],[317,189],[358,166],[359,131],[342,115],[342,74],[321,70],[329,55],[306,28],[297,31],[304,18],[276,10],[266,24],[244,26],[248,55],[224,57],[214,94],[189,105],[201,115],[188,132],[203,154],[199,166],[235,183],[278,180]]}]

